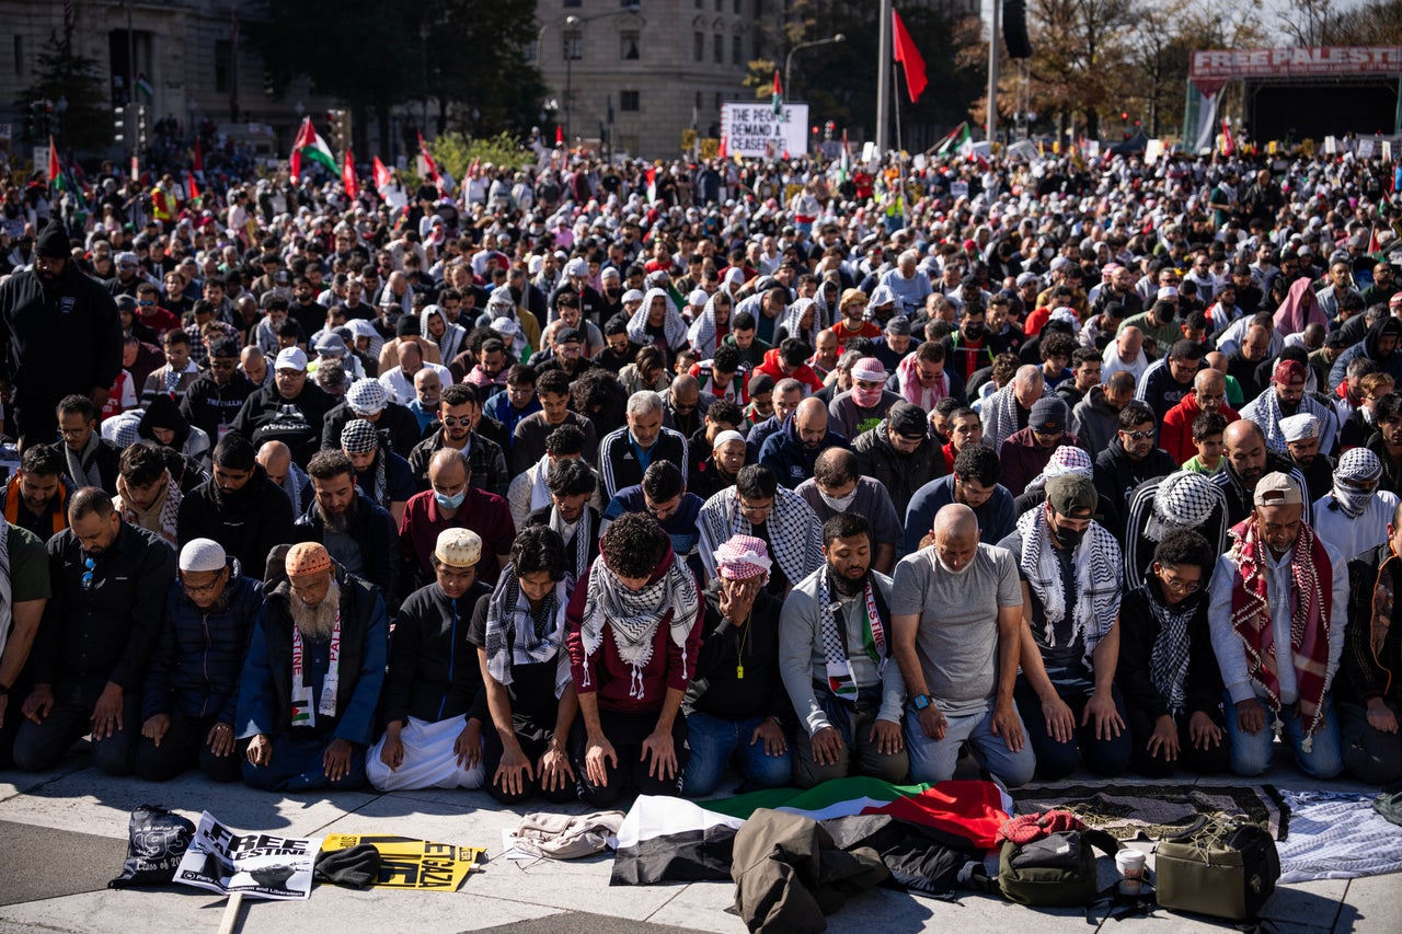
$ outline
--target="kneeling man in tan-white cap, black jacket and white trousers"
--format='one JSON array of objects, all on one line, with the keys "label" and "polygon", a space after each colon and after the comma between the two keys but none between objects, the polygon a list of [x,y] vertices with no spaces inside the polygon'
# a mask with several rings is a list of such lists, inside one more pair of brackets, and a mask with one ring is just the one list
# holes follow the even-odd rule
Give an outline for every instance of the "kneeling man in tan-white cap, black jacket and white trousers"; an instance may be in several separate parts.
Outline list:
[{"label": "kneeling man in tan-white cap, black jacket and white trousers", "polygon": [[471,529],[439,533],[433,583],[400,607],[384,676],[384,736],[366,753],[380,791],[481,788],[482,675],[468,639],[472,610],[491,589],[477,579],[482,540]]}]

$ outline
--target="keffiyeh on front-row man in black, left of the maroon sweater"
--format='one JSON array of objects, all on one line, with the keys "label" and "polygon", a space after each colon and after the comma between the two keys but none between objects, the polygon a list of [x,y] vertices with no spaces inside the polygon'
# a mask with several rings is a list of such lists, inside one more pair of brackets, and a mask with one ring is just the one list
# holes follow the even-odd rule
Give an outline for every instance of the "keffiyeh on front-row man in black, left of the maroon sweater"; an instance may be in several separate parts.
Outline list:
[{"label": "keffiyeh on front-row man in black, left of the maroon sweater", "polygon": [[498,684],[512,683],[513,665],[536,665],[557,659],[555,697],[569,680],[569,654],[565,644],[565,607],[575,579],[565,575],[555,589],[531,611],[530,597],[522,593],[516,568],[506,565],[486,604],[486,670]]}]

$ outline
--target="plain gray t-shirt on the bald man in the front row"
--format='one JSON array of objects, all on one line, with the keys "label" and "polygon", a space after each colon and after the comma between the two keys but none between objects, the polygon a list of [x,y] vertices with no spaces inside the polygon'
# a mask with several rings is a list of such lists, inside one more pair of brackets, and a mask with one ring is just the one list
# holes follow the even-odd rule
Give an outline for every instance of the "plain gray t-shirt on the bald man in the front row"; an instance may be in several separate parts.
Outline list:
[{"label": "plain gray t-shirt on the bald man in the front row", "polygon": [[916,654],[925,689],[946,717],[984,712],[998,687],[998,609],[1022,606],[1018,565],[1005,548],[979,544],[960,574],[934,547],[906,555],[890,588],[892,616],[920,614]]}]

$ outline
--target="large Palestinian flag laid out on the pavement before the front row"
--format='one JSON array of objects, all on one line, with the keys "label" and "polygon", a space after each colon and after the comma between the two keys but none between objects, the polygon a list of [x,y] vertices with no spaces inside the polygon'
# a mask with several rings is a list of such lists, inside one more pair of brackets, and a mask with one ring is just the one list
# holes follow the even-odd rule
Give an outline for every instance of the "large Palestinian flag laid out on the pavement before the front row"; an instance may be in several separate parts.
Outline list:
[{"label": "large Palestinian flag laid out on the pavement before the front row", "polygon": [[[641,795],[618,829],[611,885],[729,879],[736,832],[761,808],[815,820],[886,816],[914,837],[960,854],[993,847],[1012,799],[991,781],[892,785],[876,778],[841,778],[798,791],[775,788],[716,801]],[[883,853],[885,855],[885,853]],[[960,858],[962,865],[965,860]]]}]

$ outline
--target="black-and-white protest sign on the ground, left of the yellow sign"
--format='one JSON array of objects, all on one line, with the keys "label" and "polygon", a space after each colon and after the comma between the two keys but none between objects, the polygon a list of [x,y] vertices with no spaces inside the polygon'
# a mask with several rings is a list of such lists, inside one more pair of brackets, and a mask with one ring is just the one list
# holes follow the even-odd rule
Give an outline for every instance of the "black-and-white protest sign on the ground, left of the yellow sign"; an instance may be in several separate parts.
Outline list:
[{"label": "black-and-white protest sign on the ground, left of the yellow sign", "polygon": [[304,899],[320,837],[279,837],[226,827],[207,811],[175,871],[175,881],[223,895]]}]

